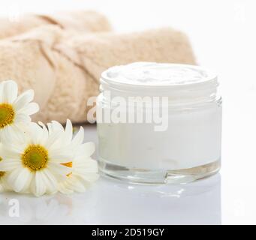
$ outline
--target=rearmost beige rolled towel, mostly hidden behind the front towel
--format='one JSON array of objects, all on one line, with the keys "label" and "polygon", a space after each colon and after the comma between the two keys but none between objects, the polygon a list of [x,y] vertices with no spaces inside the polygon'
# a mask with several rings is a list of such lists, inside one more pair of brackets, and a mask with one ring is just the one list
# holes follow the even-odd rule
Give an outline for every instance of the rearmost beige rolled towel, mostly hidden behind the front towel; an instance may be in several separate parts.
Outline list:
[{"label": "rearmost beige rolled towel, mostly hidden behind the front towel", "polygon": [[101,13],[95,11],[60,12],[43,15],[26,14],[17,22],[0,19],[0,39],[22,34],[43,25],[56,25],[71,31],[110,31],[110,23]]}]

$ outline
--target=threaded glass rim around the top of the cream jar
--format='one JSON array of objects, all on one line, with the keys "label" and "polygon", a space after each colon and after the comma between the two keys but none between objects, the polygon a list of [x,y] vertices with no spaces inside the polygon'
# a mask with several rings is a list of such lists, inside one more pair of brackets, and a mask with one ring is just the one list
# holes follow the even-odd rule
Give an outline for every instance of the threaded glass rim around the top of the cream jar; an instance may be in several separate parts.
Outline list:
[{"label": "threaded glass rim around the top of the cream jar", "polygon": [[[135,63],[136,64],[136,63]],[[139,63],[140,64],[140,63]],[[150,64],[150,63],[149,63]],[[164,64],[167,66],[179,66],[179,68],[193,68],[200,69],[206,72],[206,68],[201,68],[195,65],[179,65],[179,64]],[[115,67],[113,67],[115,68]],[[117,66],[117,68],[119,68]],[[111,68],[110,68],[111,69]],[[109,70],[107,70],[109,71]],[[101,74],[100,91],[107,94],[111,93],[113,97],[168,97],[171,104],[193,104],[198,102],[211,102],[215,101],[217,96],[218,79],[217,75],[211,71],[207,71],[206,77],[203,81],[188,84],[175,84],[175,85],[137,85],[133,83],[120,83],[111,80],[107,76],[107,71]],[[187,71],[185,71],[185,74]],[[161,73],[160,73],[161,74]],[[157,75],[155,75],[157,77]],[[175,74],[173,76],[176,76]],[[189,77],[189,73],[188,76]]]}]

